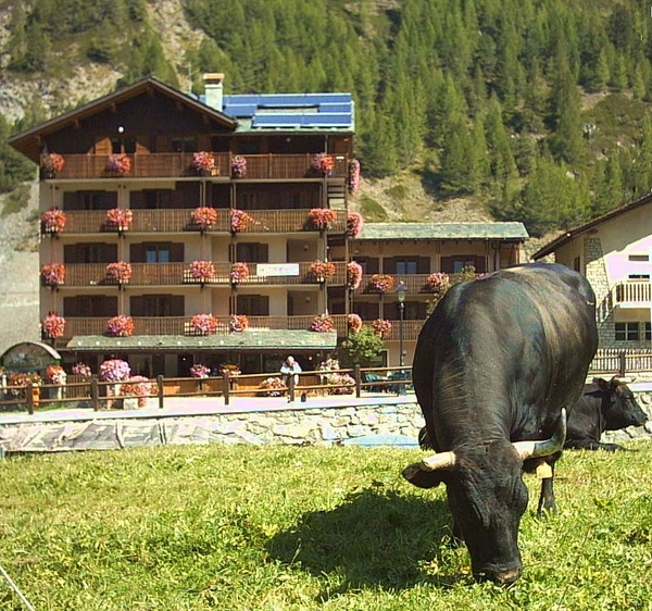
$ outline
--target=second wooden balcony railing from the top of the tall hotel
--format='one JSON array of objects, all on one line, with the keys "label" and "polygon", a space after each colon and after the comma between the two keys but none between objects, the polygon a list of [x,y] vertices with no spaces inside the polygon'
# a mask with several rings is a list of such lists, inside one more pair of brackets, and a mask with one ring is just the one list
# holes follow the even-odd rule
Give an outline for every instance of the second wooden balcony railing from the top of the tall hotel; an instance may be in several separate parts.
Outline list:
[{"label": "second wooden balcony railing from the top of the tall hotel", "polygon": [[[197,202],[199,205],[199,202]],[[134,220],[128,234],[176,234],[180,232],[199,232],[192,222],[196,207],[174,210],[138,210],[134,209]],[[231,221],[229,209],[216,209],[217,223],[206,229],[211,234],[230,234]],[[64,211],[67,234],[117,234],[115,225],[106,222],[105,210]],[[310,210],[248,210],[250,220],[243,224],[242,234],[288,234],[298,232],[317,232],[310,217]],[[336,220],[328,228],[329,233],[343,234],[347,230],[347,211],[335,210]],[[51,235],[51,234],[43,234]]]}]

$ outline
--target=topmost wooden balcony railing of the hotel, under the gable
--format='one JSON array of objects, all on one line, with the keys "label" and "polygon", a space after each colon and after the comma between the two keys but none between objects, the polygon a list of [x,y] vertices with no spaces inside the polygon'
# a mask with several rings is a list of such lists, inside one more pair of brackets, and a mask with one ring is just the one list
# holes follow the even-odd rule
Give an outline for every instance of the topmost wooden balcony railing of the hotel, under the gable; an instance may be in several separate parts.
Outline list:
[{"label": "topmost wooden balcony railing of the hotel, under the gable", "polygon": [[[198,173],[192,166],[192,153],[134,153],[128,155],[131,167],[127,174],[106,170],[106,154],[65,154],[65,165],[53,178],[62,180],[92,180],[120,178],[202,178],[209,180],[298,180],[343,179],[348,177],[349,160],[334,155],[335,167],[330,176],[315,173],[311,167],[313,154],[246,154],[247,175],[231,176],[229,152],[215,152],[215,169],[208,175]],[[50,178],[43,178],[50,179]]]}]

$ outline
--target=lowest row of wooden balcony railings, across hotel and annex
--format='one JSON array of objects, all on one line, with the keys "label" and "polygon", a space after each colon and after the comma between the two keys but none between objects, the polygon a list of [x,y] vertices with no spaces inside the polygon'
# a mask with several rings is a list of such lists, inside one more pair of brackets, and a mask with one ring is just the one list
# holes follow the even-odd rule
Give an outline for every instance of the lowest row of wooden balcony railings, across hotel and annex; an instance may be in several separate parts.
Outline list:
[{"label": "lowest row of wooden balcony railings, across hotel and annex", "polygon": [[[250,329],[291,329],[308,331],[314,315],[304,316],[248,316]],[[331,316],[334,331],[339,337],[348,333],[347,316],[335,314]],[[74,336],[105,335],[108,317],[68,317],[65,320],[64,336],[57,340],[58,347],[64,347]],[[197,335],[192,329],[192,316],[164,316],[164,317],[135,317],[134,336],[138,335]],[[230,333],[229,316],[218,316],[216,335]],[[365,321],[369,323],[371,321]],[[403,340],[415,340],[425,321],[403,321]],[[398,341],[400,338],[400,321],[391,321],[392,328],[386,340]]]}]

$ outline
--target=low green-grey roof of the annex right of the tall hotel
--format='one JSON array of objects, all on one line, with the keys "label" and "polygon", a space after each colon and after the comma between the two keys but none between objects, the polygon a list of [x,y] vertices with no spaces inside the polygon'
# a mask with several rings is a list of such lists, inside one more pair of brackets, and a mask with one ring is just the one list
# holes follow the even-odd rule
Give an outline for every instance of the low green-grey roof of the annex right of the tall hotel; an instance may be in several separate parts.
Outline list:
[{"label": "low green-grey roof of the annex right of the tall hotel", "polygon": [[529,238],[523,223],[365,223],[355,240]]}]

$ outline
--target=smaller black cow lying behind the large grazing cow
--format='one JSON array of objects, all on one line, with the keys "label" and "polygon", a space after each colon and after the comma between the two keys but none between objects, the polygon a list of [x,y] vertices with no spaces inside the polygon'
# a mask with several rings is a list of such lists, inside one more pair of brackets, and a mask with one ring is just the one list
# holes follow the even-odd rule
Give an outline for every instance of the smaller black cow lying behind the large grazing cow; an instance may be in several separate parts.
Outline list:
[{"label": "smaller black cow lying behind the large grazing cow", "polygon": [[602,444],[605,431],[618,431],[627,426],[642,426],[648,422],[645,412],[637,403],[626,381],[618,376],[606,382],[594,377],[587,384],[568,416],[568,434],[564,448],[585,450],[624,450],[617,444]]}]

